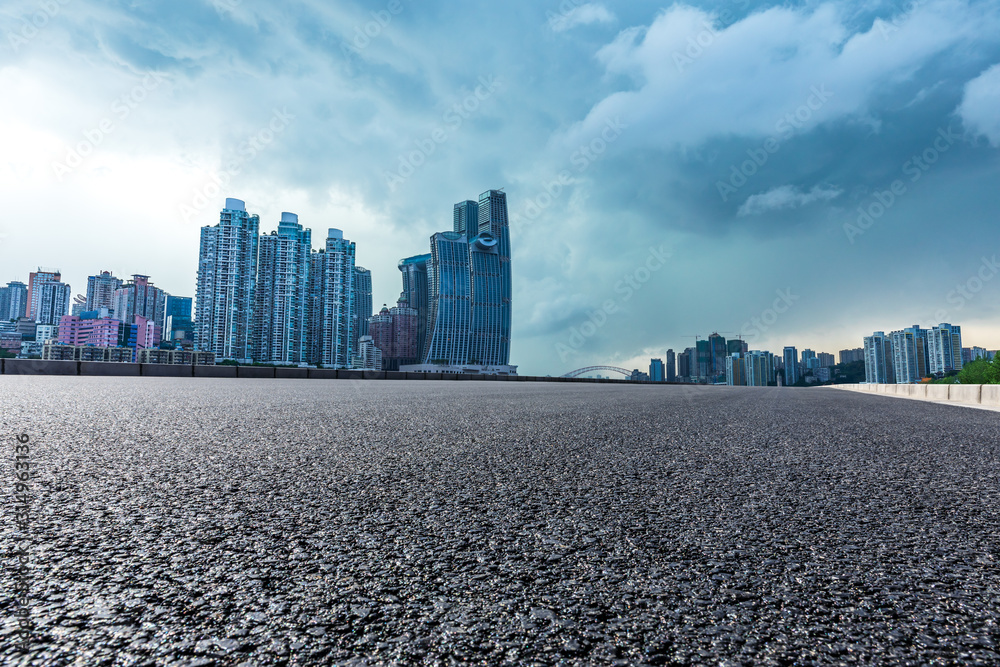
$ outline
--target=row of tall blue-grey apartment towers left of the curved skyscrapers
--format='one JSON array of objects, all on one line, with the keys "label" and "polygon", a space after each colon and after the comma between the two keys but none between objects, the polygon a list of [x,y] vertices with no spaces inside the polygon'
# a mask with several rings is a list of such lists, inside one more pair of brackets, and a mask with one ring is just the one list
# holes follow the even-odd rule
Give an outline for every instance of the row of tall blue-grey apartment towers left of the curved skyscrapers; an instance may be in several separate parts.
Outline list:
[{"label": "row of tall blue-grey apartment towers left of the curved skyscrapers", "polygon": [[371,274],[355,266],[355,244],[330,229],[313,251],[294,213],[270,234],[259,228],[238,199],[202,228],[195,347],[242,363],[350,368],[371,317]]}]

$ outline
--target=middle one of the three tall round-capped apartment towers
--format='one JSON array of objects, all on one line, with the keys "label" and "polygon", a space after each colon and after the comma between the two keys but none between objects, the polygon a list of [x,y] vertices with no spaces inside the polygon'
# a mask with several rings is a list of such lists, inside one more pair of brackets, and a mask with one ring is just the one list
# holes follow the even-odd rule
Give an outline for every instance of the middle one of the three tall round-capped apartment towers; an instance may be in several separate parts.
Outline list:
[{"label": "middle one of the three tall round-capped apartment towers", "polygon": [[278,230],[260,237],[251,352],[263,363],[306,361],[312,231],[282,213]]}]

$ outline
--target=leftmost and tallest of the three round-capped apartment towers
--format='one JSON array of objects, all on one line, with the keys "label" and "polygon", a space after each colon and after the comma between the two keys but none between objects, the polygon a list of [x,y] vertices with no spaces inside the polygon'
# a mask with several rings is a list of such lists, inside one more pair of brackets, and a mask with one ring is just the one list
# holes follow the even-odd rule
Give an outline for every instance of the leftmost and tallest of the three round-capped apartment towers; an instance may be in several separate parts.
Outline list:
[{"label": "leftmost and tallest of the three round-capped apartment towers", "polygon": [[260,218],[226,199],[219,224],[201,229],[195,347],[219,359],[251,359]]}]

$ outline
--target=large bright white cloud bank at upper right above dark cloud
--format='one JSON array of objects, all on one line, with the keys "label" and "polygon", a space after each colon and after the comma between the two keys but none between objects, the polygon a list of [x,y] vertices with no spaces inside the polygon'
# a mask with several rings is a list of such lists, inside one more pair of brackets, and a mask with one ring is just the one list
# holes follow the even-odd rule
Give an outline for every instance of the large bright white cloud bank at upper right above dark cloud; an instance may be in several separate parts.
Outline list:
[{"label": "large bright white cloud bank at upper right above dark cloud", "polygon": [[[629,123],[632,145],[689,148],[724,136],[766,137],[782,122],[798,133],[864,118],[878,95],[910,81],[969,40],[995,43],[1000,15],[966,0],[930,0],[884,34],[852,34],[840,5],[772,7],[741,20],[677,4],[648,27],[629,28],[598,53],[610,74],[632,79],[598,102],[565,137],[592,137],[608,118]],[[829,91],[817,102],[815,90]],[[804,108],[805,107],[805,108]]]}]

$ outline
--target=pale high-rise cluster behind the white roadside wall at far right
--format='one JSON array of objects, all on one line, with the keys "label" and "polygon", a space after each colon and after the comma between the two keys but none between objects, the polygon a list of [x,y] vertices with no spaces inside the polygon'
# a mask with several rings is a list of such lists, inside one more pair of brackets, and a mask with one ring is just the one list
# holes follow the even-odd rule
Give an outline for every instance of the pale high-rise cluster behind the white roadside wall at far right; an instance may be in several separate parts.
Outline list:
[{"label": "pale high-rise cluster behind the white roadside wall at far right", "polygon": [[869,384],[913,384],[962,370],[977,359],[992,359],[982,347],[962,347],[962,327],[917,325],[865,337],[865,380]]}]

